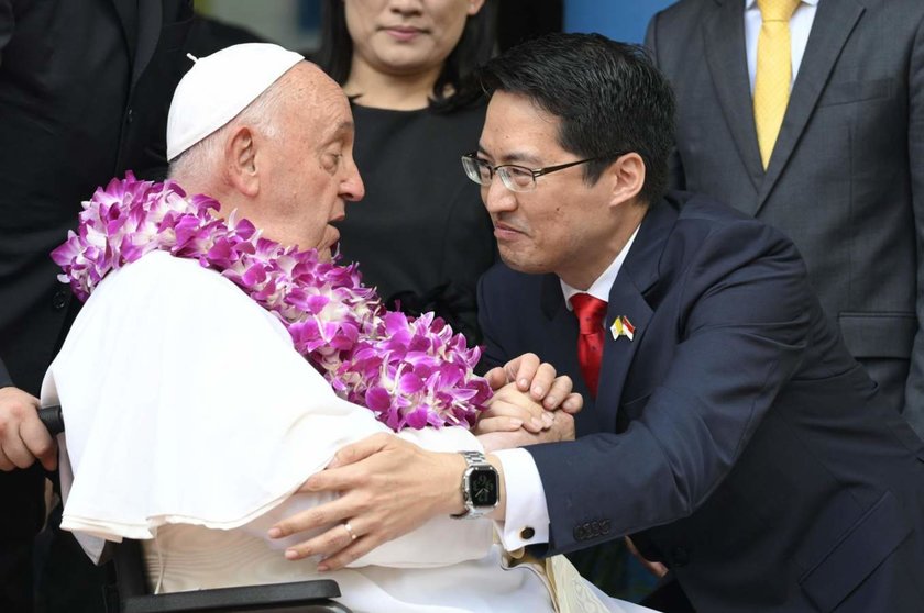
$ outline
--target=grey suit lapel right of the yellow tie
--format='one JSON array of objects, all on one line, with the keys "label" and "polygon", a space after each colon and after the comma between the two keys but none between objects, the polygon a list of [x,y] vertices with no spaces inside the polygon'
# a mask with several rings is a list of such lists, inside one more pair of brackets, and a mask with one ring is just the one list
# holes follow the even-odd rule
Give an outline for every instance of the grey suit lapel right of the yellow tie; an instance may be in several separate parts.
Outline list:
[{"label": "grey suit lapel right of the yellow tie", "polygon": [[864,11],[865,8],[856,0],[818,2],[805,55],[793,83],[783,125],[770,157],[767,176],[760,186],[757,210],[752,211],[754,213],[767,201],[785,169],[815,110],[818,97],[831,78],[834,65]]}]

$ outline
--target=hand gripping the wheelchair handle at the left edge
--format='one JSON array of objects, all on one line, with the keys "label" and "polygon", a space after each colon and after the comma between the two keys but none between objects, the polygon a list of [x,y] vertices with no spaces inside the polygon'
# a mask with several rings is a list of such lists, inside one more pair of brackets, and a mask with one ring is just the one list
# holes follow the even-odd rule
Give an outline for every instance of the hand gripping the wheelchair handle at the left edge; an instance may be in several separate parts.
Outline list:
[{"label": "hand gripping the wheelchair handle at the left edge", "polygon": [[35,460],[57,466],[57,445],[38,419],[38,399],[18,388],[0,389],[0,470],[29,468]]}]

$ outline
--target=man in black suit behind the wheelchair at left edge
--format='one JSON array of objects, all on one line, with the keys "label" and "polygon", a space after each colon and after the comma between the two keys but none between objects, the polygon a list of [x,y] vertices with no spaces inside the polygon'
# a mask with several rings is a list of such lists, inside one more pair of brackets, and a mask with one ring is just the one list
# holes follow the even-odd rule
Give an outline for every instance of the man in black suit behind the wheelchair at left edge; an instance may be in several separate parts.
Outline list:
[{"label": "man in black suit behind the wheelchair at left edge", "polygon": [[32,540],[44,521],[34,456],[55,464],[35,397],[78,303],[48,253],[98,185],[166,169],[191,4],[0,0],[0,469],[31,466],[0,472],[4,613],[31,611]]}]

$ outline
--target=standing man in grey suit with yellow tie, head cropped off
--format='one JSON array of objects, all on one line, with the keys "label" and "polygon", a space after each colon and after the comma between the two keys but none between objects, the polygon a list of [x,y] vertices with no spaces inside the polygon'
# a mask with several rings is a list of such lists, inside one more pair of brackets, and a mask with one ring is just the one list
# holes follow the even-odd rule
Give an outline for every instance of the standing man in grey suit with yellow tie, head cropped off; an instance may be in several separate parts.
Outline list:
[{"label": "standing man in grey suit with yellow tie, head cropped off", "polygon": [[676,92],[674,185],[792,237],[850,354],[924,435],[924,2],[682,0],[647,44]]}]

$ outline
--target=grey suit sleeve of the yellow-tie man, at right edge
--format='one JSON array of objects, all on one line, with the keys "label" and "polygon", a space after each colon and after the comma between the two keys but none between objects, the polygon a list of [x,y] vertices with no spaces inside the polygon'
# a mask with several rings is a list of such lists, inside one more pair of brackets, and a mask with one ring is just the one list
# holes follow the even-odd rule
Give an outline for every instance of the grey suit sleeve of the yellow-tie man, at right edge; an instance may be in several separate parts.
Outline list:
[{"label": "grey suit sleeve of the yellow-tie man, at right edge", "polygon": [[904,414],[924,436],[924,23],[919,25],[909,66],[909,164],[917,236],[917,334],[905,388]]}]

